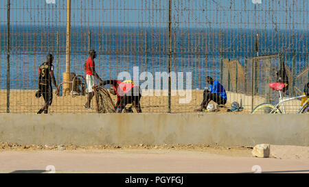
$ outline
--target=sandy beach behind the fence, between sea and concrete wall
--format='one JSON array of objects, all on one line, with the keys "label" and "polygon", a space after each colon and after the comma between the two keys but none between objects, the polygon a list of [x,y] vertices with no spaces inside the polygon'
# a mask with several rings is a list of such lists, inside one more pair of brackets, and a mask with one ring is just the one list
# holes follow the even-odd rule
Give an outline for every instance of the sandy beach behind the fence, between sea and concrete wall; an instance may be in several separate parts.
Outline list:
[{"label": "sandy beach behind the fence, between sea and concrete wall", "polygon": [[[43,105],[43,97],[36,98],[34,96],[36,90],[11,90],[10,93],[10,112],[12,113],[36,113]],[[145,91],[144,91],[145,92]],[[173,92],[172,92],[173,94]],[[116,101],[115,96],[111,96],[113,101]],[[6,91],[0,90],[0,113],[6,112]],[[191,97],[187,103],[181,103],[180,99],[184,99],[178,93],[171,97],[171,112],[194,112],[203,101],[203,90],[192,90]],[[85,110],[82,106],[87,100],[87,96],[66,96],[57,97],[54,94],[52,106],[49,108],[50,113],[92,113],[96,110]],[[225,113],[228,108],[231,108],[231,102],[238,101],[242,103],[244,110],[242,112],[233,112],[235,114],[244,114],[251,112],[252,97],[240,93],[227,92],[227,104],[224,108],[218,108],[217,113]],[[253,106],[264,103],[263,97],[254,97]],[[288,113],[295,113],[300,107],[300,101],[288,101],[285,103]],[[96,109],[94,99],[91,102],[91,108]],[[143,112],[167,112],[168,97],[163,96],[143,96],[141,97],[141,110]],[[135,110],[134,110],[135,112]]]}]

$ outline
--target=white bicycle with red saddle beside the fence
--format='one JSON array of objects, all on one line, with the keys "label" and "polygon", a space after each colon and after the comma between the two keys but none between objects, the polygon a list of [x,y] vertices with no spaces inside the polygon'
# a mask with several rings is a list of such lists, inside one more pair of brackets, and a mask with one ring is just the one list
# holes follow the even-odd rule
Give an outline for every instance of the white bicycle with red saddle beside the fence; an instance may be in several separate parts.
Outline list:
[{"label": "white bicycle with red saddle beside the fence", "polygon": [[[282,89],[286,86],[286,84],[283,83],[270,83],[269,87],[271,87],[273,90],[279,92],[279,103],[276,105],[272,105],[270,103],[262,103],[258,106],[256,106],[251,114],[257,114],[257,113],[266,113],[266,114],[282,114],[281,110],[279,107],[282,105],[283,113],[286,114],[286,110],[284,108],[284,102],[294,100],[294,99],[301,99],[303,97],[307,97],[306,95],[300,95],[297,97],[291,97],[288,99],[282,99]],[[297,114],[299,113],[306,113],[309,112],[309,97],[307,97],[306,101],[304,102],[303,105],[301,105],[301,108],[297,110]]]}]

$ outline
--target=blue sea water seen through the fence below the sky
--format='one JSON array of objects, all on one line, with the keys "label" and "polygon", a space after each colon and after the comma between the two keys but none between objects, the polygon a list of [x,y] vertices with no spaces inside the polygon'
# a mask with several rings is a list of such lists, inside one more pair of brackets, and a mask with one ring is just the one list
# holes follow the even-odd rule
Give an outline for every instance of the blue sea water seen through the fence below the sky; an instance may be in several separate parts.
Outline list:
[{"label": "blue sea water seen through the fence below the sky", "polygon": [[[44,62],[47,53],[54,54],[56,79],[60,83],[65,71],[65,27],[12,26],[10,30],[10,88],[37,89],[38,66]],[[98,53],[95,65],[102,79],[116,79],[122,71],[128,71],[133,77],[133,66],[139,67],[139,73],[148,71],[154,76],[155,72],[168,71],[166,32],[166,28],[73,27],[71,72],[84,74],[82,64],[87,59],[88,48]],[[172,71],[192,72],[192,88],[203,89],[207,75],[219,79],[221,58],[238,58],[244,64],[245,58],[256,55],[254,38],[257,32],[260,34],[260,55],[284,52],[284,61],[291,67],[295,50],[297,72],[307,66],[307,31],[173,29]],[[7,47],[4,25],[0,30],[0,53],[0,88],[5,89]]]}]

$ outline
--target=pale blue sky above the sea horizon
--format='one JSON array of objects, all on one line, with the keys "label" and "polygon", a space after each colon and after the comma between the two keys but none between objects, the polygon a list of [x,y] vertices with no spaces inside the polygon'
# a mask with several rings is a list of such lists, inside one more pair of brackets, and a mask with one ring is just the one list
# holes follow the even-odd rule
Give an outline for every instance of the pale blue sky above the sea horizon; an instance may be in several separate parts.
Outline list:
[{"label": "pale blue sky above the sea horizon", "polygon": [[[0,1],[1,25],[5,25],[7,0]],[[66,25],[65,0],[10,2],[11,25]],[[167,27],[168,1],[71,0],[71,25]],[[308,1],[172,0],[172,27],[308,30]]]}]

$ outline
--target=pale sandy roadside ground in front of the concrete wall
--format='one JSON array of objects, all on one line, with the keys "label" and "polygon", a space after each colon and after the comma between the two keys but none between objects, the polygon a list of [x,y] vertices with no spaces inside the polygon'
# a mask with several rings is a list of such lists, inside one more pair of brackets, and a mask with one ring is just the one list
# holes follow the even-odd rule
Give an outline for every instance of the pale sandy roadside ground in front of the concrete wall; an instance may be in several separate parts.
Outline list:
[{"label": "pale sandy roadside ground in front of the concrete wall", "polygon": [[[25,148],[5,144],[2,142],[0,147],[0,173],[49,173],[46,171],[49,169],[56,173],[309,173],[308,158],[254,158],[251,147],[28,145]],[[277,154],[279,149],[282,147],[277,147]]]}]

